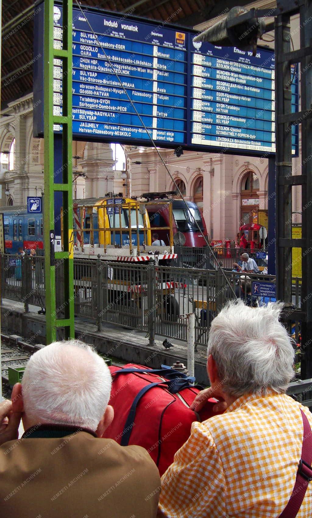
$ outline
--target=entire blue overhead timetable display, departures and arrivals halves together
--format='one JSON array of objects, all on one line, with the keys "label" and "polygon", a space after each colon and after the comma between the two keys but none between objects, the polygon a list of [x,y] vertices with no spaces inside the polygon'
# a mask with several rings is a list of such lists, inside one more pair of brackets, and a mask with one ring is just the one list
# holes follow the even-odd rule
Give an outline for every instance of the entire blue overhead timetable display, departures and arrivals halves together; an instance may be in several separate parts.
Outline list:
[{"label": "entire blue overhead timetable display, departures and arrivals halves together", "polygon": [[[43,136],[43,11],[42,5],[35,16],[34,136]],[[95,8],[82,16],[74,7],[73,138],[148,146],[149,134],[162,147],[275,153],[273,51],[258,49],[252,56],[195,44],[195,35]],[[62,48],[61,4],[54,6],[54,47]],[[53,84],[54,114],[61,116],[60,59],[54,60]],[[292,102],[297,110],[297,77]],[[54,131],[62,126],[54,125]],[[292,152],[298,154],[298,129],[292,131]]]}]

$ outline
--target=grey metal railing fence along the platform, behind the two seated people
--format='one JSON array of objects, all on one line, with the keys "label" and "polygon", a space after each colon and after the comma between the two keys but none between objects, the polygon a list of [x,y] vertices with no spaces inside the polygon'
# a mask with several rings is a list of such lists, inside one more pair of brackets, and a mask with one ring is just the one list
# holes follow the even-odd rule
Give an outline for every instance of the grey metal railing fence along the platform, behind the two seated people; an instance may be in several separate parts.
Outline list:
[{"label": "grey metal railing fence along the platform, behind the two seated people", "polygon": [[[197,249],[195,250],[197,253]],[[197,255],[199,257],[199,254]],[[1,296],[44,308],[44,257],[1,255]],[[228,300],[244,299],[247,305],[263,303],[252,296],[252,281],[274,283],[275,277],[204,268],[155,266],[144,263],[74,260],[75,315],[92,319],[101,330],[102,322],[113,323],[155,335],[187,341],[186,315],[195,313],[195,344],[205,346],[209,328]],[[56,286],[64,282],[63,262],[55,264]],[[292,308],[286,325],[296,342],[300,339],[300,280],[295,279]],[[248,292],[249,287],[249,292]],[[57,318],[66,318],[68,302],[56,289]],[[298,314],[297,314],[298,313]]]}]

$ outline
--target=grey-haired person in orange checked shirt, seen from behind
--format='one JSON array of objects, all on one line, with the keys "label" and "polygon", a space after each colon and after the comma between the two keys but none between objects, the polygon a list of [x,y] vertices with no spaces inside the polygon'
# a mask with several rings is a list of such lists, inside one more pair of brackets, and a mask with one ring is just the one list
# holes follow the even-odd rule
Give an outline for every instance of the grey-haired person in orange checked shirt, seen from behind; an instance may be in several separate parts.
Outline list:
[{"label": "grey-haired person in orange checked shirt, seen from behind", "polygon": [[[312,414],[285,394],[294,352],[278,322],[281,306],[252,309],[239,300],[213,320],[207,350],[211,387],[191,408],[199,410],[215,395],[227,409],[192,424],[190,438],[162,476],[159,516],[277,518],[287,506],[308,436],[301,410],[308,429]],[[307,516],[312,483],[297,518]]]}]

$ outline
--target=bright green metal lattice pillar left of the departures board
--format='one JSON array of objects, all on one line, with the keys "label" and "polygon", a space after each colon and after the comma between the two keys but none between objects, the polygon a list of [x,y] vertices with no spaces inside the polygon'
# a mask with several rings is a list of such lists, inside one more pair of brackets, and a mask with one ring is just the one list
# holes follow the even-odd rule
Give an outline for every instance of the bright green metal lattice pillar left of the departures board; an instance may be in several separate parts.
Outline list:
[{"label": "bright green metal lattice pillar left of the departures board", "polygon": [[[53,59],[63,62],[63,114],[53,115]],[[63,48],[53,47],[53,0],[44,0],[44,249],[46,274],[47,344],[56,340],[56,328],[75,338],[73,291],[72,213],[72,0],[63,1]],[[63,182],[54,183],[53,124],[62,124]],[[54,252],[54,193],[63,193],[63,252]],[[50,253],[49,253],[50,252]],[[64,261],[64,285],[55,286],[55,262]],[[56,318],[55,290],[64,290],[65,313]]]}]

